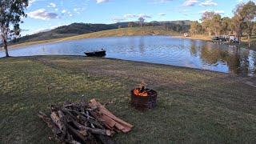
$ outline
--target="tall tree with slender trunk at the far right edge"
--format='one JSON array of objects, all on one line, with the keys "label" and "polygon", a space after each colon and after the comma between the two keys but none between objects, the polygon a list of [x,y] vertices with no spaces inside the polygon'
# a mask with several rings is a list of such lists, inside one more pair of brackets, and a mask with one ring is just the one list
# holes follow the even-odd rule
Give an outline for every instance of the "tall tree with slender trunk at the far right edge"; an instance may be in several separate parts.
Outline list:
[{"label": "tall tree with slender trunk at the far right edge", "polygon": [[244,6],[242,6],[241,17],[244,22],[244,26],[246,29],[246,34],[248,36],[248,43],[250,47],[250,38],[254,29],[254,18],[256,17],[256,6],[252,1],[247,2]]}]

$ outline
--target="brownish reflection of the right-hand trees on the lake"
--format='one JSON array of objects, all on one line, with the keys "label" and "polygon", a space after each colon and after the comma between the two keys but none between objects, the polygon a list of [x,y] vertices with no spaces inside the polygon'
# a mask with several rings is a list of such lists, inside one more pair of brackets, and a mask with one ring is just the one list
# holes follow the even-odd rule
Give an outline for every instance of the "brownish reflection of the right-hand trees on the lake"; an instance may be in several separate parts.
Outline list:
[{"label": "brownish reflection of the right-hand trees on the lake", "polygon": [[[194,54],[194,46],[190,48]],[[217,66],[220,63],[226,64],[229,72],[234,74],[255,74],[255,52],[237,47],[219,46],[206,44],[202,47],[202,61],[210,66]]]}]

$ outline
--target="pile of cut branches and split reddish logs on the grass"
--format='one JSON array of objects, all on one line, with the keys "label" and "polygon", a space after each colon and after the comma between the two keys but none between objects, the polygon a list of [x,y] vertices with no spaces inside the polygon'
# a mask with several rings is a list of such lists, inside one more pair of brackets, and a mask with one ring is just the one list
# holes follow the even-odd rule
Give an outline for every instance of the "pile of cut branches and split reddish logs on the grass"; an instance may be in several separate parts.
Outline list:
[{"label": "pile of cut branches and split reddish logs on the grass", "polygon": [[95,99],[87,102],[66,102],[63,106],[51,106],[50,115],[38,112],[62,143],[114,143],[115,133],[127,133],[133,127],[117,118]]}]

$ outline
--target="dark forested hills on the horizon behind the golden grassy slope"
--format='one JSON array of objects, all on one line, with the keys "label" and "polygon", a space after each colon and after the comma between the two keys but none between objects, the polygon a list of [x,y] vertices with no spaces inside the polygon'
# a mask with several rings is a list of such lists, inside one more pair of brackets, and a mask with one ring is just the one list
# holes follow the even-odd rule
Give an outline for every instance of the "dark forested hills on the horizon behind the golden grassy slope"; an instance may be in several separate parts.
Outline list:
[{"label": "dark forested hills on the horizon behind the golden grassy slope", "polygon": [[[73,23],[68,26],[59,26],[53,30],[40,32],[38,34],[31,34],[17,38],[15,41],[10,42],[10,45],[23,43],[23,42],[36,42],[42,40],[50,40],[55,38],[66,38],[77,36],[80,34],[89,34],[102,30],[113,30],[118,27],[126,28],[129,22],[118,22],[114,24],[91,24],[91,23]],[[138,22],[134,22],[134,26],[138,26]],[[144,26],[164,26],[166,30],[175,32],[184,32],[189,30],[190,21],[166,21],[166,22],[146,22]]]}]

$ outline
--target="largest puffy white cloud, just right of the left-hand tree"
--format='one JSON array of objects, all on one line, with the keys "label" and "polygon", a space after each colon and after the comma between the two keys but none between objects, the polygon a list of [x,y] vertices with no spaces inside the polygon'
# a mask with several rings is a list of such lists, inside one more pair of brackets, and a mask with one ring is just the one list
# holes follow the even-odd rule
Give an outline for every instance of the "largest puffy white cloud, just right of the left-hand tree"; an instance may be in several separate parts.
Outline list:
[{"label": "largest puffy white cloud, just right of the left-hand tree", "polygon": [[36,19],[42,19],[42,20],[58,18],[58,14],[49,13],[45,9],[34,10],[29,12],[27,15],[30,18],[36,18]]}]

